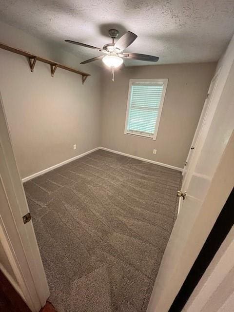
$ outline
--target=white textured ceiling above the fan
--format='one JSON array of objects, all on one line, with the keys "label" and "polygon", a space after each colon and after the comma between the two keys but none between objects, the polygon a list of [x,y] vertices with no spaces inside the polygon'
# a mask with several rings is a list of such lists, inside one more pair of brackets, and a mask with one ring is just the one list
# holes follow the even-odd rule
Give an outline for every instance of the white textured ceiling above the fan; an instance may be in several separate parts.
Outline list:
[{"label": "white textured ceiling above the fan", "polygon": [[0,20],[83,60],[100,52],[64,39],[102,47],[111,42],[108,29],[117,28],[120,36],[127,30],[138,36],[125,51],[158,56],[161,64],[209,62],[234,33],[234,0],[1,0]]}]

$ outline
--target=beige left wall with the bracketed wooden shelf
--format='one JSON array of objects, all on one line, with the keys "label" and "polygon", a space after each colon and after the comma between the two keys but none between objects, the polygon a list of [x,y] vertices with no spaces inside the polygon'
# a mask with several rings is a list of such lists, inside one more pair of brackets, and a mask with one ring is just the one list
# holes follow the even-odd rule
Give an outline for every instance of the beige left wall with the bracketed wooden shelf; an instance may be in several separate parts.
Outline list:
[{"label": "beige left wall with the bracketed wooden shelf", "polygon": [[[94,65],[59,47],[0,23],[0,41],[55,59],[91,74],[81,76],[37,62],[31,73],[28,60],[0,49],[0,92],[22,178],[98,147],[100,75]],[[73,145],[77,149],[73,149]]]}]

